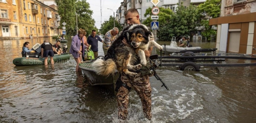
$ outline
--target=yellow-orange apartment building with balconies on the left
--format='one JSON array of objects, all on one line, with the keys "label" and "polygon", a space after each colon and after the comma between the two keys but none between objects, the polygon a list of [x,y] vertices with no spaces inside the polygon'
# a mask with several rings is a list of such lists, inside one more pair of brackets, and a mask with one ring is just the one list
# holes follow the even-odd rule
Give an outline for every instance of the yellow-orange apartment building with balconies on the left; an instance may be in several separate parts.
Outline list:
[{"label": "yellow-orange apartment building with balconies on the left", "polygon": [[49,37],[59,34],[57,10],[37,0],[0,0],[0,39]]}]

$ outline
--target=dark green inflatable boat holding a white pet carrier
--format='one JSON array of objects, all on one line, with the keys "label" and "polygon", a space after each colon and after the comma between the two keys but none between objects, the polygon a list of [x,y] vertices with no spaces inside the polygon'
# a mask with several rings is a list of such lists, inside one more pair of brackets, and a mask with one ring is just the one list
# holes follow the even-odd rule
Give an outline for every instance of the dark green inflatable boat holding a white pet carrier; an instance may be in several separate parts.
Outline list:
[{"label": "dark green inflatable boat holding a white pet carrier", "polygon": [[[66,60],[69,59],[70,56],[68,53],[64,53],[61,55],[54,55],[54,61]],[[37,57],[20,57],[13,59],[13,64],[16,66],[27,66],[27,65],[43,65],[45,58],[37,58]],[[48,57],[48,62],[50,63],[50,57]]]}]

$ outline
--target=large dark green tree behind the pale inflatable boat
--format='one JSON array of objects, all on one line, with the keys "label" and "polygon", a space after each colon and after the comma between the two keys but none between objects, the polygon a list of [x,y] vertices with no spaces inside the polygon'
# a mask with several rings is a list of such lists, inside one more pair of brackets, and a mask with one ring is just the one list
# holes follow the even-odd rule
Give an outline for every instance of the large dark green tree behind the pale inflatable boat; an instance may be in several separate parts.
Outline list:
[{"label": "large dark green tree behind the pale inflatable boat", "polygon": [[186,8],[181,5],[177,7],[176,13],[172,14],[170,19],[165,20],[166,22],[159,26],[157,37],[159,40],[169,41],[172,37],[179,39],[181,36],[195,33],[198,19],[198,10],[195,5],[189,5]]}]

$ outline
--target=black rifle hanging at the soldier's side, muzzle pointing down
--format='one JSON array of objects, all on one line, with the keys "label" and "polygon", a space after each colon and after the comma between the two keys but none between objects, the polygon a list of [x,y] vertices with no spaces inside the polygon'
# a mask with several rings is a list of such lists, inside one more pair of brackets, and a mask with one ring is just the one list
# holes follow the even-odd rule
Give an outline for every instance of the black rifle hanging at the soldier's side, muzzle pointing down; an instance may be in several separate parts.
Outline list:
[{"label": "black rifle hanging at the soldier's side, muzzle pointing down", "polygon": [[161,86],[161,87],[165,87],[167,90],[169,90],[169,88],[165,85],[165,83],[163,82],[163,80],[158,76],[158,74],[156,73],[156,71],[155,71],[155,69],[160,65],[160,61],[159,60],[157,60],[157,58],[158,58],[158,55],[156,54],[156,55],[151,55],[150,57],[149,57],[150,59],[156,59],[155,60],[155,62],[154,62],[154,64],[153,64],[153,66],[150,68],[150,71],[154,71],[154,76],[156,77],[156,79],[157,80],[160,80],[162,83],[163,83],[163,85]]}]

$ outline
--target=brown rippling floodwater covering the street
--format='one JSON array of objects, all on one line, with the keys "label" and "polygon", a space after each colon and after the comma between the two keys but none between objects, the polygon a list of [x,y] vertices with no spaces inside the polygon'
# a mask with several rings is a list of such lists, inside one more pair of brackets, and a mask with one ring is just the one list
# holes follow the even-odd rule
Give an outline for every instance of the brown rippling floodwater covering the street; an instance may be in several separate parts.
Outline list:
[{"label": "brown rippling floodwater covering the street", "polygon": [[[83,73],[76,73],[72,56],[54,66],[13,65],[25,41],[32,47],[43,40],[0,41],[0,122],[118,122],[115,97],[100,86],[91,86]],[[55,40],[48,40],[54,44]],[[215,48],[216,42],[191,44]],[[101,42],[99,55],[103,55]],[[132,90],[127,122],[256,122],[255,71],[256,67],[201,71],[160,67],[156,72],[169,90],[154,76],[150,78],[152,121],[144,118],[140,99]]]}]

